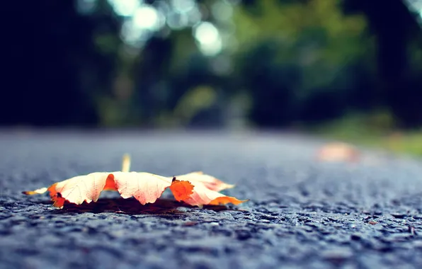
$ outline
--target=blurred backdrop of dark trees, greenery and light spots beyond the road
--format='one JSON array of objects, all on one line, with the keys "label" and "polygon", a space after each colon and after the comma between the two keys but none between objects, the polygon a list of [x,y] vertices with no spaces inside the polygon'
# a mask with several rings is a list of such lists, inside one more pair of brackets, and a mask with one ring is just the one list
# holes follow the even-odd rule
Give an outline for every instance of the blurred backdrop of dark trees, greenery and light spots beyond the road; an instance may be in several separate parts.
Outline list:
[{"label": "blurred backdrop of dark trees, greenery and light spots beyond the road", "polygon": [[3,126],[305,130],[422,154],[422,1],[8,5]]}]

